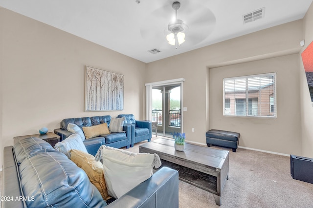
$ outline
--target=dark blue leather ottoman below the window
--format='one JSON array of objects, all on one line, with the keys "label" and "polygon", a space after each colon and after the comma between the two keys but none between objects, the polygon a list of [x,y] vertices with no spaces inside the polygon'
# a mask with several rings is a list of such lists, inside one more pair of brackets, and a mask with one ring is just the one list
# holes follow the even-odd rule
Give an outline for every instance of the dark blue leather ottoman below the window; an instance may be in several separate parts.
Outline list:
[{"label": "dark blue leather ottoman below the window", "polygon": [[206,144],[208,147],[211,145],[224,146],[233,149],[233,152],[236,152],[236,149],[239,145],[240,133],[211,129],[205,133]]}]

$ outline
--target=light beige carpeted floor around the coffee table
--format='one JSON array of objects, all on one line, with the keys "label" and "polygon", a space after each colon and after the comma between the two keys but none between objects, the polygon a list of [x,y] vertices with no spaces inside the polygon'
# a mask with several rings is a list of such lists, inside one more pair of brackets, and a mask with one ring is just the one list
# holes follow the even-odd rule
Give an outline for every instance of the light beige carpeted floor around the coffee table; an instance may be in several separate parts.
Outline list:
[{"label": "light beige carpeted floor around the coffee table", "polygon": [[[138,152],[142,143],[127,150]],[[292,179],[290,157],[242,148],[237,152],[212,148],[229,151],[221,208],[313,208],[313,184]],[[179,181],[179,208],[218,207],[213,194]]]}]

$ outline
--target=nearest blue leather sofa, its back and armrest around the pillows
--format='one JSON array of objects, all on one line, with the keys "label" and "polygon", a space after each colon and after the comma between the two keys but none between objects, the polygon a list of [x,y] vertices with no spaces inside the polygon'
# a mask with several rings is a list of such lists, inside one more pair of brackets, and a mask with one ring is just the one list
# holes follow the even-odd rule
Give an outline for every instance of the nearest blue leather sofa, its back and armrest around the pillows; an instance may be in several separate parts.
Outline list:
[{"label": "nearest blue leather sofa, its back and armrest around the pillows", "polygon": [[163,167],[107,206],[83,169],[39,138],[5,146],[2,208],[178,208],[178,171]]}]

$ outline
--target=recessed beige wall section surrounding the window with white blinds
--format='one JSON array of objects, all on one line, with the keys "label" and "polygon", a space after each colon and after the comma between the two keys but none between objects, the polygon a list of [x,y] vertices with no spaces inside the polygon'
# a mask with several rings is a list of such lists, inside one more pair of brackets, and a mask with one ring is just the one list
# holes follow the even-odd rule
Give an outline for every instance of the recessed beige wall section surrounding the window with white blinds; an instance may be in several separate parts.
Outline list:
[{"label": "recessed beige wall section surrounding the window with white blinds", "polygon": [[[240,146],[301,153],[298,54],[210,69],[210,128],[241,133]],[[277,118],[223,116],[223,78],[276,72]]]}]

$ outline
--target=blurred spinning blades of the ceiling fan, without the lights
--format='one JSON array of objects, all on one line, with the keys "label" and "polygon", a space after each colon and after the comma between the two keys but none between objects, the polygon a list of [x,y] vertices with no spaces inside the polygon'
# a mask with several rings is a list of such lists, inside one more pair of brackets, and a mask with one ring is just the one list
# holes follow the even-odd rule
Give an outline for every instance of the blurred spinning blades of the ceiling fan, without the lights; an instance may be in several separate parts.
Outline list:
[{"label": "blurred spinning blades of the ceiling fan, without the lights", "polygon": [[[216,18],[213,12],[203,5],[183,0],[177,15],[178,19],[188,26],[184,31],[186,34],[184,47],[193,47],[202,42],[215,28]],[[144,18],[140,28],[141,37],[146,41],[155,42],[161,50],[173,49],[175,46],[166,41],[168,23],[173,19],[175,10],[171,4],[166,3]]]}]

